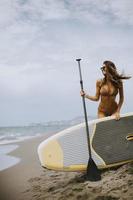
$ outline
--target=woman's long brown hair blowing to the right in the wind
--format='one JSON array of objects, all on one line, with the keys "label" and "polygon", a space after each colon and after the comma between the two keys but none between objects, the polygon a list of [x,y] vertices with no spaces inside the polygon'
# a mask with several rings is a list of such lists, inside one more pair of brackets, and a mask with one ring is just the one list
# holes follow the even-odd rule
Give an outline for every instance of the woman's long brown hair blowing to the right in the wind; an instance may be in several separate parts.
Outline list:
[{"label": "woman's long brown hair blowing to the right in the wind", "polygon": [[[119,88],[122,85],[122,80],[131,78],[131,76],[125,76],[123,73],[119,74],[117,72],[117,68],[113,62],[106,60],[103,62],[103,64],[106,65],[108,72],[109,72],[110,80],[114,86]],[[105,82],[105,78],[103,81]]]}]

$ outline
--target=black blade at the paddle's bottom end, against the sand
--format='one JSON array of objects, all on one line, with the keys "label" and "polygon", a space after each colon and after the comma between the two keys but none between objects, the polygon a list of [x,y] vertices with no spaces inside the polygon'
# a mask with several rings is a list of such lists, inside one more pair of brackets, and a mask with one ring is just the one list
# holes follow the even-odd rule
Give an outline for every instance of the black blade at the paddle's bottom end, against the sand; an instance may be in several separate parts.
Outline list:
[{"label": "black blade at the paddle's bottom end, against the sand", "polygon": [[86,179],[89,181],[101,180],[100,170],[97,168],[97,166],[92,158],[90,158],[88,161]]}]

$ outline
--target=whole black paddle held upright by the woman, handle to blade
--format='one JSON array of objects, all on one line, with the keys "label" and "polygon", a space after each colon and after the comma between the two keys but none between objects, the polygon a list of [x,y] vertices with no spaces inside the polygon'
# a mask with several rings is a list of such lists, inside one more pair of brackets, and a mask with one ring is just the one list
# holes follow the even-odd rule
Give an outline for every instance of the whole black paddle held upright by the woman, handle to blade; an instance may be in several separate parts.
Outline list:
[{"label": "whole black paddle held upright by the woman, handle to blade", "polygon": [[[78,66],[79,66],[81,90],[84,91],[82,73],[81,73],[81,67],[80,67],[81,59],[76,59],[76,61],[78,62]],[[100,171],[97,168],[94,160],[92,159],[90,136],[89,136],[89,127],[88,127],[88,119],[87,119],[87,111],[86,111],[86,104],[85,104],[84,95],[82,96],[82,100],[83,100],[83,108],[84,108],[84,116],[85,116],[85,124],[86,124],[86,135],[87,135],[88,151],[89,151],[89,160],[88,160],[88,165],[87,165],[86,179],[90,180],[90,181],[98,181],[98,180],[101,180],[101,174],[100,174]]]}]

